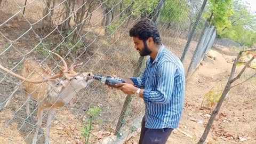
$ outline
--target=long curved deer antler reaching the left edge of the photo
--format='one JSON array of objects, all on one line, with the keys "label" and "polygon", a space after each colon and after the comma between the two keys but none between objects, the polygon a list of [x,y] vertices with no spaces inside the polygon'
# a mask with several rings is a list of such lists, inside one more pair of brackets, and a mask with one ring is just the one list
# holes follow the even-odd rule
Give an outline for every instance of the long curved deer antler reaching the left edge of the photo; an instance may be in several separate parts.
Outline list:
[{"label": "long curved deer antler reaching the left edge of the photo", "polygon": [[58,77],[62,76],[61,74],[57,74],[57,75],[53,75],[53,76],[50,76],[50,77],[46,77],[45,79],[43,78],[41,80],[34,81],[34,80],[31,80],[31,79],[22,77],[22,76],[20,76],[18,74],[15,74],[11,70],[3,67],[2,65],[0,65],[0,68],[3,69],[6,73],[8,73],[8,74],[10,74],[12,76],[17,77],[17,78],[19,78],[22,81],[25,81],[25,82],[28,82],[28,83],[35,83],[35,84],[42,83],[42,82],[47,82],[47,81],[49,81],[49,79],[55,79],[55,78],[58,78]]}]

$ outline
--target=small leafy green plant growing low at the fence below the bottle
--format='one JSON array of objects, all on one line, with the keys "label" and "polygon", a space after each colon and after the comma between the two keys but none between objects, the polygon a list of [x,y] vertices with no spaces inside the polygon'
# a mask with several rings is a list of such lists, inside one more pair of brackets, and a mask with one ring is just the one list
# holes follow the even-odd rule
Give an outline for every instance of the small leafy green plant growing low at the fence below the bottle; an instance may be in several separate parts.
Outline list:
[{"label": "small leafy green plant growing low at the fence below the bottle", "polygon": [[87,120],[84,123],[84,126],[82,128],[82,135],[85,138],[85,143],[88,144],[89,143],[89,138],[90,138],[90,134],[91,134],[91,130],[94,124],[98,124],[100,122],[99,119],[99,114],[100,114],[100,107],[92,107],[89,108],[87,111]]}]

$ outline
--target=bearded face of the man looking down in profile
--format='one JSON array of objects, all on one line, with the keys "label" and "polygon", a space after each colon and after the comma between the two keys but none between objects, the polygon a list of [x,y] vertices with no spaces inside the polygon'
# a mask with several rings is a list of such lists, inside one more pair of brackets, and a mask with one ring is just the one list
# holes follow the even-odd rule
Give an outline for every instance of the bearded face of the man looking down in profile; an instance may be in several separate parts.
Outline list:
[{"label": "bearded face of the man looking down in profile", "polygon": [[148,48],[147,41],[142,41],[138,37],[133,37],[134,48],[140,53],[141,56],[146,56],[151,53],[150,49]]}]

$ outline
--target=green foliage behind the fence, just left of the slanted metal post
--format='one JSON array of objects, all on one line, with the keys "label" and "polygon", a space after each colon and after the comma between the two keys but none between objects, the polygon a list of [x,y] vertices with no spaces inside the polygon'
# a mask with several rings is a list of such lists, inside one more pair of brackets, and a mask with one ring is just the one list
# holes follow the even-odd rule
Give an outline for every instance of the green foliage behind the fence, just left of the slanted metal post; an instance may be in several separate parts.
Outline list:
[{"label": "green foliage behind the fence, just left of the slanted metal post", "polygon": [[186,0],[168,0],[164,2],[159,20],[163,23],[172,21],[186,22],[189,15],[189,6]]}]

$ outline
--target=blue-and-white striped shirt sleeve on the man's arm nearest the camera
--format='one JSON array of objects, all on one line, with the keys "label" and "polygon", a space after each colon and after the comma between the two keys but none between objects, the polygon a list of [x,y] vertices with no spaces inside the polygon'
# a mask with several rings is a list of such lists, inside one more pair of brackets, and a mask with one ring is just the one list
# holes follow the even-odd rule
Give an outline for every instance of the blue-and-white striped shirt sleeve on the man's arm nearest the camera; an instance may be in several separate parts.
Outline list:
[{"label": "blue-and-white striped shirt sleeve on the man's arm nearest the camera", "polygon": [[174,76],[177,66],[173,62],[164,62],[157,71],[159,76],[157,90],[144,90],[143,99],[146,103],[159,103],[166,104],[171,100],[173,87],[174,87]]}]

